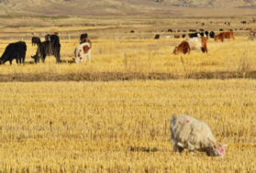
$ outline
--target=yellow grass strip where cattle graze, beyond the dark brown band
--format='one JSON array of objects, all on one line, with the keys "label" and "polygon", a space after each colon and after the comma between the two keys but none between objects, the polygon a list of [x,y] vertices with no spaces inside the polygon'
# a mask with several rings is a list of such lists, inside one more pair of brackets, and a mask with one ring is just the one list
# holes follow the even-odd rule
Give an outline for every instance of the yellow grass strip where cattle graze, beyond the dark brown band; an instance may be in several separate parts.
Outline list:
[{"label": "yellow grass strip where cattle graze, beyond the dark brown band", "polygon": [[[35,64],[26,63],[25,66],[12,66],[8,62],[2,66],[2,74],[15,73],[41,73],[41,74],[68,74],[68,73],[98,73],[98,72],[139,72],[172,73],[184,77],[198,72],[237,71],[247,72],[256,70],[254,42],[245,37],[237,37],[235,41],[226,40],[214,42],[210,39],[207,43],[208,54],[201,51],[192,51],[190,55],[173,55],[174,46],[183,39],[96,39],[93,40],[92,63],[56,64],[55,58],[47,58],[46,62]],[[9,41],[0,41],[0,54]],[[27,62],[35,55],[36,47],[31,47],[27,41]],[[73,49],[78,45],[78,40],[61,40],[61,59],[72,60]],[[184,63],[181,60],[184,59]],[[184,70],[185,69],[185,70]]]}]

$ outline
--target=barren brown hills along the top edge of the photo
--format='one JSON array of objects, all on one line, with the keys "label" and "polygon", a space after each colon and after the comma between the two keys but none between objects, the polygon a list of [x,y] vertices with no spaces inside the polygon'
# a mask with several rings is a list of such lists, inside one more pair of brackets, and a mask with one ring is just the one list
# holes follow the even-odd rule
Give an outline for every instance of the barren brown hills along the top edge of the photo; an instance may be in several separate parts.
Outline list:
[{"label": "barren brown hills along the top edge of the photo", "polygon": [[[0,0],[0,15],[40,14],[40,15],[128,15],[172,14],[172,15],[226,15],[255,14],[253,10],[237,11],[234,7],[256,6],[256,0]],[[198,8],[195,8],[198,7]],[[217,10],[222,7],[233,10]],[[199,8],[205,8],[205,11]],[[226,13],[226,14],[225,14]]]}]

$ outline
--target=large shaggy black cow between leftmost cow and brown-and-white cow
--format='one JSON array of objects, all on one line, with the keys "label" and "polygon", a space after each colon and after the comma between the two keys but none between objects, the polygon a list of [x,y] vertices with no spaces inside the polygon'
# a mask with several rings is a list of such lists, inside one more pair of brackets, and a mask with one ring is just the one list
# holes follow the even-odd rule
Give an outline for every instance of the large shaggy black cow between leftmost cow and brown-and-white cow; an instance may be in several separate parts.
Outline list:
[{"label": "large shaggy black cow between leftmost cow and brown-and-white cow", "polygon": [[56,58],[57,63],[61,62],[61,44],[55,41],[44,41],[38,45],[38,50],[36,55],[31,56],[32,59],[35,59],[35,63],[39,62],[39,59],[42,59],[42,62],[45,61],[46,56],[53,55]]}]

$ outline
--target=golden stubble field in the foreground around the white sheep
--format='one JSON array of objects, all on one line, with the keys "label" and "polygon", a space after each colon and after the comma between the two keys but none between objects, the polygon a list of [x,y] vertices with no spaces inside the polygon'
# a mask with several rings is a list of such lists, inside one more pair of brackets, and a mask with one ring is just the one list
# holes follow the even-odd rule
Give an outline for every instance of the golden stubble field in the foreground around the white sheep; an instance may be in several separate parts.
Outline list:
[{"label": "golden stubble field in the foreground around the white sheep", "polygon": [[[253,172],[255,81],[2,83],[1,172]],[[173,113],[227,135],[224,159],[175,154]]]}]

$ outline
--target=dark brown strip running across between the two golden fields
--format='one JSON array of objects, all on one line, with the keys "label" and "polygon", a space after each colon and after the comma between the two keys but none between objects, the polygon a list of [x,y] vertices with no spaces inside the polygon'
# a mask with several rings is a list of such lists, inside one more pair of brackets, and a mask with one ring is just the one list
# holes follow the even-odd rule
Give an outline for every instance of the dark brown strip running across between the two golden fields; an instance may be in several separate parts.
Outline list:
[{"label": "dark brown strip running across between the two golden fields", "polygon": [[70,74],[0,74],[0,82],[34,82],[34,81],[148,81],[148,80],[211,80],[211,79],[256,79],[256,71],[249,72],[200,72],[181,76],[172,73],[149,73],[143,74],[138,72],[98,72],[98,73],[70,73]]}]

